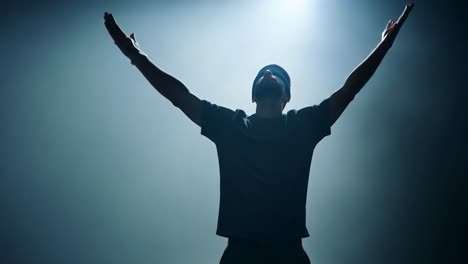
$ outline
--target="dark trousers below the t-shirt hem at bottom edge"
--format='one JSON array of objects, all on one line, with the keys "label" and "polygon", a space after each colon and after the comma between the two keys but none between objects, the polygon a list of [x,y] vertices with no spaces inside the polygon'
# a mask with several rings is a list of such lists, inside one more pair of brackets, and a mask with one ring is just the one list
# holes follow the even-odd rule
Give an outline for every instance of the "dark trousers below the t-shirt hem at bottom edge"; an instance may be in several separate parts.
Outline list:
[{"label": "dark trousers below the t-shirt hem at bottom edge", "polygon": [[220,264],[310,264],[302,240],[254,241],[229,238]]}]

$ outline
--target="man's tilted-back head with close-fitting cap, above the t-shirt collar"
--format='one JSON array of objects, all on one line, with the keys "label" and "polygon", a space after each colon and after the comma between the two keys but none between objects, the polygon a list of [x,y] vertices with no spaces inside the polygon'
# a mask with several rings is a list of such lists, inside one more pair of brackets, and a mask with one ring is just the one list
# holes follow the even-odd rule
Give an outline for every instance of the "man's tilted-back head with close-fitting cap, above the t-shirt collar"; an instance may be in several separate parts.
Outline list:
[{"label": "man's tilted-back head with close-fitting cap, above the t-shirt collar", "polygon": [[291,80],[286,70],[277,64],[263,67],[252,85],[252,102],[281,105],[284,109],[290,99]]}]

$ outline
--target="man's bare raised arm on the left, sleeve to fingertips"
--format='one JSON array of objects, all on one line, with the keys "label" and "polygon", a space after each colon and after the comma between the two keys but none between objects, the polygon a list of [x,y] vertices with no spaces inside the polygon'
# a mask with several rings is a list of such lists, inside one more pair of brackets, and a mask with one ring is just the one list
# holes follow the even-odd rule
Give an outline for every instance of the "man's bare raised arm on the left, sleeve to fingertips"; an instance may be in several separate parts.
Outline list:
[{"label": "man's bare raised arm on the left, sleeve to fingertips", "polygon": [[182,110],[194,123],[201,126],[201,100],[190,93],[187,87],[176,78],[165,73],[151,62],[140,50],[135,35],[127,37],[110,13],[104,14],[104,24],[114,43],[127,56],[151,85],[173,105]]}]

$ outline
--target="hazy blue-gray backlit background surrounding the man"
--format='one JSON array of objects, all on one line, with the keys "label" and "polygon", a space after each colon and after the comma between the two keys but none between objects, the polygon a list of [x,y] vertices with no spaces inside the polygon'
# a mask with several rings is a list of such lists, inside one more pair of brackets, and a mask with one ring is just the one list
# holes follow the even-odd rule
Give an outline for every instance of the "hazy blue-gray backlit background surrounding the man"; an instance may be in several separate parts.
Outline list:
[{"label": "hazy blue-gray backlit background surrounding the man", "polygon": [[[215,146],[130,65],[103,13],[198,97],[251,114],[263,65],[291,75],[285,111],[317,104],[406,4],[296,2],[2,2],[0,262],[217,263]],[[313,263],[461,263],[463,10],[417,2],[317,146]]]}]

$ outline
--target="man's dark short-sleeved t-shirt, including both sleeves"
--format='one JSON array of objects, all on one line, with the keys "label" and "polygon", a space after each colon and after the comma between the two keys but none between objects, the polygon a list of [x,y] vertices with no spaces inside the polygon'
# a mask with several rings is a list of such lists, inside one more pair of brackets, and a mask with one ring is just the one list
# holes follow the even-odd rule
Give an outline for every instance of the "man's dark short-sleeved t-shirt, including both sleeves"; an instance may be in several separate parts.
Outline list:
[{"label": "man's dark short-sleeved t-shirt, including both sleeves", "polygon": [[202,100],[201,134],[216,144],[220,204],[216,234],[248,239],[308,237],[312,154],[330,135],[330,100],[268,119]]}]

